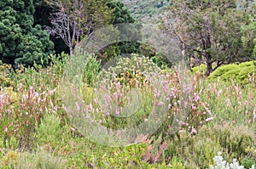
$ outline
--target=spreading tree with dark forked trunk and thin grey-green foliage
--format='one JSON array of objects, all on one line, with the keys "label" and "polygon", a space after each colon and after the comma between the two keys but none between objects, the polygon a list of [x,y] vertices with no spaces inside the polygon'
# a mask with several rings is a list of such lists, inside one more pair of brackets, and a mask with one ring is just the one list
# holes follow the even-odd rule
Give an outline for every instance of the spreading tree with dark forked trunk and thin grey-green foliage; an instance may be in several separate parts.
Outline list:
[{"label": "spreading tree with dark forked trunk and thin grey-green foliage", "polygon": [[[206,62],[207,76],[225,63],[243,58],[241,26],[248,13],[236,8],[236,0],[175,0],[163,20],[189,58]],[[212,63],[216,66],[212,68]]]}]

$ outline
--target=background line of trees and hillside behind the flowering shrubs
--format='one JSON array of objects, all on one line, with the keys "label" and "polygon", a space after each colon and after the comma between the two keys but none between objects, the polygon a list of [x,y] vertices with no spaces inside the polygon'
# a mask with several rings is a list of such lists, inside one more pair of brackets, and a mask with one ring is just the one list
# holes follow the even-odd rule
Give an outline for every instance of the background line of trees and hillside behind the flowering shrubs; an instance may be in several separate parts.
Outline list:
[{"label": "background line of trees and hillside behind the flowering shrubs", "polygon": [[[0,19],[0,59],[15,67],[49,65],[49,54],[72,55],[76,45],[98,28],[121,23],[135,25],[129,31],[138,41],[142,23],[159,26],[170,39],[170,48],[177,43],[192,67],[207,65],[207,76],[220,65],[256,57],[251,0],[8,0],[0,3]],[[119,26],[113,29],[121,31]],[[167,61],[139,42],[116,42],[97,56],[104,64],[127,53],[153,57],[160,65]]]}]

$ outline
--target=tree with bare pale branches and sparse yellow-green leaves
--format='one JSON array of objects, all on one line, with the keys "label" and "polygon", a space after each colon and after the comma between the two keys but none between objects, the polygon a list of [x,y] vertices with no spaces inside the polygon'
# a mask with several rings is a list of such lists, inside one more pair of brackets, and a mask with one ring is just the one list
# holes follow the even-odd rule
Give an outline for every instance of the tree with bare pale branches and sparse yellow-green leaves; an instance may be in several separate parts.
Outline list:
[{"label": "tree with bare pale branches and sparse yellow-green leaves", "polygon": [[108,25],[113,19],[113,10],[104,0],[45,0],[55,13],[50,15],[50,34],[61,37],[73,55],[74,47],[82,38],[89,38],[96,28]]}]

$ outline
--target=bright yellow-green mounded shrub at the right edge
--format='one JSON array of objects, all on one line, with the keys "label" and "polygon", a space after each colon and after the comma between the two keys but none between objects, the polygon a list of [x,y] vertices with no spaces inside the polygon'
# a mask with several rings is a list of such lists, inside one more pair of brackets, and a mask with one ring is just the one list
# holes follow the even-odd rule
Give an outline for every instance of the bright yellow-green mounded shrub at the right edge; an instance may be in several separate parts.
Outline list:
[{"label": "bright yellow-green mounded shrub at the right edge", "polygon": [[240,65],[231,64],[218,67],[212,72],[209,79],[218,79],[223,81],[230,81],[231,79],[238,84],[245,84],[250,81],[250,76],[255,76],[256,68],[253,61],[244,62]]}]

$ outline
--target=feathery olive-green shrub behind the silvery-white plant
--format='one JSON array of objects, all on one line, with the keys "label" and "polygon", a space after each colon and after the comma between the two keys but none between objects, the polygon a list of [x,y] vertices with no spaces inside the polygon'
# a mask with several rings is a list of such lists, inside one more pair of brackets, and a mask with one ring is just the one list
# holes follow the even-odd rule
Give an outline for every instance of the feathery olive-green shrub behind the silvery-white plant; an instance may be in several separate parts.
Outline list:
[{"label": "feathery olive-green shrub behind the silvery-white plant", "polygon": [[207,168],[218,151],[224,152],[229,161],[233,158],[240,161],[246,155],[245,149],[252,143],[253,131],[247,127],[215,124],[213,127],[202,127],[193,137],[181,133],[180,139],[169,144],[165,156],[182,158],[184,166],[189,168]]}]

